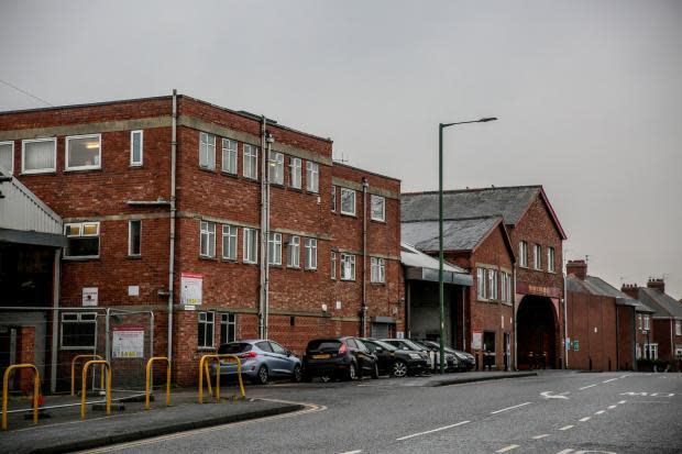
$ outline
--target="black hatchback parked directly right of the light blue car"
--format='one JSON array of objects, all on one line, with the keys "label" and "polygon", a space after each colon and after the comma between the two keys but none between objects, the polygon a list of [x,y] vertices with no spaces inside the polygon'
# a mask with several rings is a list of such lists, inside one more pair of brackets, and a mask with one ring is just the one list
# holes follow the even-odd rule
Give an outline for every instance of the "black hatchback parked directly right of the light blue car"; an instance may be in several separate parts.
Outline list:
[{"label": "black hatchback parked directly right of the light blue car", "polygon": [[358,337],[315,339],[308,342],[302,363],[302,379],[330,377],[356,380],[363,375],[378,378],[378,364]]}]

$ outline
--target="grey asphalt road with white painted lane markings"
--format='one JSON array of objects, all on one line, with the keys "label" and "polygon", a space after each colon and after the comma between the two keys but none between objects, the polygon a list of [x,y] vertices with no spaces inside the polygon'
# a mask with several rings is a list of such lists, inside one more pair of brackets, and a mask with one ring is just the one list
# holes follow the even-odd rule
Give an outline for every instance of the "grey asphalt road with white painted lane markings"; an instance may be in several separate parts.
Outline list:
[{"label": "grey asphalt road with white painted lane markings", "polygon": [[682,374],[581,374],[422,387],[419,378],[279,384],[301,413],[109,446],[120,453],[680,453]]}]

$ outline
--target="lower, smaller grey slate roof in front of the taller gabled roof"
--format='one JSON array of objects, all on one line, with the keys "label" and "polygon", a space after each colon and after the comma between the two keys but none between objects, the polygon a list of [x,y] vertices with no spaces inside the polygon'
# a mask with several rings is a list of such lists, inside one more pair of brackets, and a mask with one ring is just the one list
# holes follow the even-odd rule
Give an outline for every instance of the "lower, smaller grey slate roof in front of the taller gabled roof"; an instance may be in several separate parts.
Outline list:
[{"label": "lower, smaller grey slate roof in front of the taller gabled roof", "polygon": [[[501,217],[458,219],[443,222],[443,250],[472,251]],[[419,251],[438,251],[438,221],[403,222],[400,239]]]}]

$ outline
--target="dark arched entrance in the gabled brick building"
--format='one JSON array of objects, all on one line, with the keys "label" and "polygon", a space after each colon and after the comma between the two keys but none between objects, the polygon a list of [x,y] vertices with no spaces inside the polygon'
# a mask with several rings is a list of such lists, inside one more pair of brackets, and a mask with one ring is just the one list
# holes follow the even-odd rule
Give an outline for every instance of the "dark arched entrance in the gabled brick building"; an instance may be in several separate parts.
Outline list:
[{"label": "dark arched entrance in the gabled brick building", "polygon": [[527,295],[516,313],[519,369],[554,368],[558,319],[551,299]]}]

